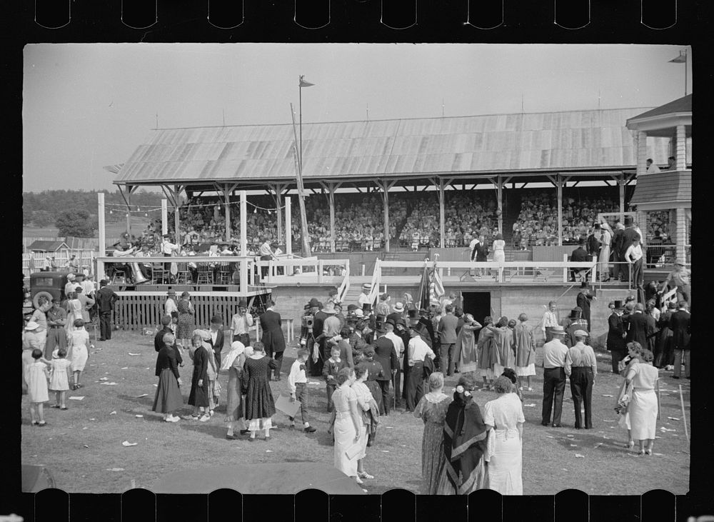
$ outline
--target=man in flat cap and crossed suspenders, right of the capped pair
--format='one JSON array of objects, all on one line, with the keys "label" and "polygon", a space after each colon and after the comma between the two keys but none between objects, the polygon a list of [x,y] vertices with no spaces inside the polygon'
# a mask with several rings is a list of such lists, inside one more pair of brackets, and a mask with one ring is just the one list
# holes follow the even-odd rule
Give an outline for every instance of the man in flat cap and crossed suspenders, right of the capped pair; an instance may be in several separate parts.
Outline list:
[{"label": "man in flat cap and crossed suspenders, right of the capped pair", "polygon": [[575,331],[575,346],[565,356],[565,375],[570,377],[570,393],[575,406],[575,429],[583,428],[580,405],[585,407],[585,429],[593,428],[593,384],[598,374],[598,361],[593,348],[585,344],[588,332]]}]

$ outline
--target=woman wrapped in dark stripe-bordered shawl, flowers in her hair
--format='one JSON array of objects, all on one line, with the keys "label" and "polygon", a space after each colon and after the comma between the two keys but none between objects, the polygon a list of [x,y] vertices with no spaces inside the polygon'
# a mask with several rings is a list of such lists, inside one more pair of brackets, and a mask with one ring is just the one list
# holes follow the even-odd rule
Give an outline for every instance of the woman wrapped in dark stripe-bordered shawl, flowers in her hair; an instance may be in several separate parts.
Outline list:
[{"label": "woman wrapped in dark stripe-bordered shawl, flowers in her hair", "polygon": [[471,396],[474,385],[471,374],[463,374],[446,411],[444,455],[451,495],[468,495],[482,489],[486,477],[483,453],[486,451],[487,428],[481,410]]}]

